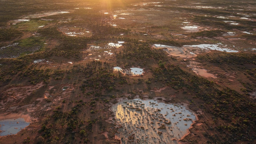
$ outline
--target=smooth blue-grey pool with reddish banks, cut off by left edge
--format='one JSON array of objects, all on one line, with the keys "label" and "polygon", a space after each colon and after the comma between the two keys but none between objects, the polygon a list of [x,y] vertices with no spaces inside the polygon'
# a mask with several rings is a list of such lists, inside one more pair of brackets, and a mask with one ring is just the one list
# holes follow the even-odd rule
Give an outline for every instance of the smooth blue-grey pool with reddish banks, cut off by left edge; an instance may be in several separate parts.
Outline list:
[{"label": "smooth blue-grey pool with reddish banks, cut off by left edge", "polygon": [[0,120],[0,136],[17,134],[21,129],[29,125],[24,118]]}]

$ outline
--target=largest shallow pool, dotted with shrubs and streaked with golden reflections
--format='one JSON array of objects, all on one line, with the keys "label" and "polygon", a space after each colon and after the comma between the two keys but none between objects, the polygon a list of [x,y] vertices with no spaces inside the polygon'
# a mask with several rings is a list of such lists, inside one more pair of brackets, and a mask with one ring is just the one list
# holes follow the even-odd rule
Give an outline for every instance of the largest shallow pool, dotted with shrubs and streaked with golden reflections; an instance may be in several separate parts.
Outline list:
[{"label": "largest shallow pool, dotted with shrubs and streaked with golden reflections", "polygon": [[195,115],[186,107],[155,100],[123,100],[110,108],[121,143],[170,143],[187,134]]}]

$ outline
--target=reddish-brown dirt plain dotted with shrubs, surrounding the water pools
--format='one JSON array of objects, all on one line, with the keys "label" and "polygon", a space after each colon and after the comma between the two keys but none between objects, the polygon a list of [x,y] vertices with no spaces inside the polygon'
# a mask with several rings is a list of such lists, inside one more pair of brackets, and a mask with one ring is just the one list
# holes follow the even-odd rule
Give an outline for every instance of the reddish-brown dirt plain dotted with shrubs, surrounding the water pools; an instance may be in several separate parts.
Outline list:
[{"label": "reddish-brown dirt plain dotted with shrubs, surrounding the water pools", "polygon": [[118,137],[127,131],[111,107],[135,98],[196,114],[187,134],[159,143],[256,143],[255,1],[0,5],[0,120],[30,122],[0,143],[151,143]]}]

